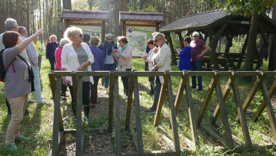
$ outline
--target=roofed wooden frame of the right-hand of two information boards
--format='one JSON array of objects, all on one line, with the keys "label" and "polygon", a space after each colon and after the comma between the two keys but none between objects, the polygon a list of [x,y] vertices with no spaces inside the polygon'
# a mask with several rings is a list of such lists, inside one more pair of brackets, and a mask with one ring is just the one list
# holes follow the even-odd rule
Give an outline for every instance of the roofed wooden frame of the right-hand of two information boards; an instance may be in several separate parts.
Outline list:
[{"label": "roofed wooden frame of the right-hand of two information boards", "polygon": [[123,35],[126,36],[126,26],[155,27],[155,31],[159,31],[159,24],[164,21],[164,17],[162,13],[155,12],[120,11],[119,21],[123,23]]}]

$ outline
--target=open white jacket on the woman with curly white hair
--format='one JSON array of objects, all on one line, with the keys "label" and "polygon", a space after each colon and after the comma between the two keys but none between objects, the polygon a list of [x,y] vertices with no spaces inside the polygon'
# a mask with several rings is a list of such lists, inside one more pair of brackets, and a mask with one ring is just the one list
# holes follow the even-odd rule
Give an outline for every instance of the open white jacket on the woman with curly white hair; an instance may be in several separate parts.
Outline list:
[{"label": "open white jacket on the woman with curly white hair", "polygon": [[[92,52],[88,46],[87,43],[81,43],[81,46],[84,50],[86,50],[86,54],[88,56],[88,61],[91,62],[91,64],[94,63],[95,59],[92,55]],[[63,46],[62,52],[61,52],[61,68],[66,68],[67,71],[77,71],[77,68],[80,66],[79,60],[77,58],[77,54],[75,52],[75,49],[72,46],[72,43],[68,43]],[[91,66],[87,66],[88,71],[91,70]],[[66,77],[68,81],[70,81],[70,86],[72,86],[72,77]],[[90,77],[90,81],[92,84],[94,84],[93,77]]]}]

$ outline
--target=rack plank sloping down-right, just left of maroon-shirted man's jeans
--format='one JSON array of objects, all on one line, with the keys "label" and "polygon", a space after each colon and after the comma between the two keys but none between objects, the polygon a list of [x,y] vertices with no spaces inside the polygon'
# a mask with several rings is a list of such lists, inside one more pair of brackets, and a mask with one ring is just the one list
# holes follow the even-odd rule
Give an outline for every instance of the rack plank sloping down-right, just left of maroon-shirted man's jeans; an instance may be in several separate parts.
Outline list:
[{"label": "rack plank sloping down-right, just left of maroon-shirted man's jeans", "polygon": [[[188,75],[188,72],[184,73],[184,76]],[[193,103],[193,97],[192,97],[192,91],[190,90],[190,81],[189,79],[186,80],[185,85],[186,90],[186,99],[187,99],[187,105],[188,105],[188,114],[190,119],[190,130],[193,137],[193,143],[194,146],[199,147],[199,136],[197,134],[197,120],[195,119],[195,108]]]}]

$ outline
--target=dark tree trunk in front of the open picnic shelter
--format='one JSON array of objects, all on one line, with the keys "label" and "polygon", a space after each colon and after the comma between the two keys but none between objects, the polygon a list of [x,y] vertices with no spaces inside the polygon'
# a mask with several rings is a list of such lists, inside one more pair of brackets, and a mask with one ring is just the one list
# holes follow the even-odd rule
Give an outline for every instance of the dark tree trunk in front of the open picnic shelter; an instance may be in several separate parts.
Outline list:
[{"label": "dark tree trunk in front of the open picnic shelter", "polygon": [[251,16],[251,24],[248,36],[248,48],[246,50],[246,62],[244,64],[245,71],[253,70],[254,57],[256,53],[256,41],[257,41],[257,30],[259,24],[259,14],[253,12]]}]

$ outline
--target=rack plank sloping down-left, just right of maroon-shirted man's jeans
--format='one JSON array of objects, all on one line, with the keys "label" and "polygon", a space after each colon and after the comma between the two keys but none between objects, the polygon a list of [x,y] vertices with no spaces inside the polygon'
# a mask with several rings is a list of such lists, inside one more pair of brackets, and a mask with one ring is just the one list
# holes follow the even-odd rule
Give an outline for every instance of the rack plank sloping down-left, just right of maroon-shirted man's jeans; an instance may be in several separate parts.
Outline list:
[{"label": "rack plank sloping down-left, just right of maroon-shirted man's jeans", "polygon": [[217,73],[218,73],[217,71],[214,72],[213,79],[210,81],[208,92],[204,99],[203,106],[201,107],[199,114],[197,115],[197,128],[200,127],[201,121],[204,117],[204,113],[206,112],[207,106],[209,104],[209,101],[210,101],[210,99],[213,95],[214,89],[216,87],[217,79],[219,77]]}]

